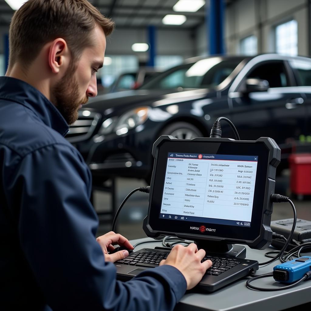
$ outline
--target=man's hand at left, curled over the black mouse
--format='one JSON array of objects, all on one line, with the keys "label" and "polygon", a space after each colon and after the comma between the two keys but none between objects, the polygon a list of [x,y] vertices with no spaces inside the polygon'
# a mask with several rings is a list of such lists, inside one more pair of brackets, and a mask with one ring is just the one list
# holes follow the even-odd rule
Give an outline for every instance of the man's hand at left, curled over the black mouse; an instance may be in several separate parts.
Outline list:
[{"label": "man's hand at left, curled over the black mouse", "polygon": [[128,256],[128,251],[126,250],[119,251],[114,254],[108,254],[108,252],[114,250],[113,245],[118,244],[128,249],[134,249],[133,245],[128,241],[128,239],[126,239],[121,234],[114,233],[113,231],[99,236],[96,241],[100,244],[100,247],[103,250],[105,261],[109,262],[115,262]]}]

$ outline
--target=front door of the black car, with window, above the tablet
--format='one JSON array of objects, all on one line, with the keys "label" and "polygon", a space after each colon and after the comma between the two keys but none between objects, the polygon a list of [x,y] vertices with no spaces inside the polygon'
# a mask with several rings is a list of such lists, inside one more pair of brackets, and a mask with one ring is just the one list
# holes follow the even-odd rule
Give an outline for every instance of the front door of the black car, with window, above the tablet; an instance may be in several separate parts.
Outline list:
[{"label": "front door of the black car, with window, above the tablet", "polygon": [[[269,88],[247,93],[249,78],[267,80]],[[305,107],[304,94],[294,86],[293,72],[284,60],[262,61],[249,68],[235,92],[229,93],[232,119],[241,139],[272,137],[281,148],[298,139],[305,131]]]}]

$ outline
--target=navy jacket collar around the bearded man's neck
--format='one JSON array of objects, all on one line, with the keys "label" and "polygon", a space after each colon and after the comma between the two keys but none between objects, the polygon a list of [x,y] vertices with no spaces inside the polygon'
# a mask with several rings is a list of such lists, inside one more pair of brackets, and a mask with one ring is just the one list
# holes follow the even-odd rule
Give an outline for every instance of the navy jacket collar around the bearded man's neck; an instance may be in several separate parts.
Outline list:
[{"label": "navy jacket collar around the bearded man's neck", "polygon": [[65,136],[68,124],[58,109],[36,88],[11,77],[0,77],[0,99],[11,100],[32,110],[44,124]]}]

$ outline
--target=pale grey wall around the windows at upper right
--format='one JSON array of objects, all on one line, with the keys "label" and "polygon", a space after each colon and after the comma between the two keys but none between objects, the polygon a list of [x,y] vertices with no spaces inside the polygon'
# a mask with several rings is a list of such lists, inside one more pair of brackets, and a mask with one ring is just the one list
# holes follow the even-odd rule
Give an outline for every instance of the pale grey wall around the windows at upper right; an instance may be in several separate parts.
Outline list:
[{"label": "pale grey wall around the windows at upper right", "polygon": [[298,22],[298,54],[309,55],[307,0],[236,0],[226,8],[225,42],[229,54],[239,52],[241,39],[256,35],[258,53],[274,52],[274,28],[295,19]]}]

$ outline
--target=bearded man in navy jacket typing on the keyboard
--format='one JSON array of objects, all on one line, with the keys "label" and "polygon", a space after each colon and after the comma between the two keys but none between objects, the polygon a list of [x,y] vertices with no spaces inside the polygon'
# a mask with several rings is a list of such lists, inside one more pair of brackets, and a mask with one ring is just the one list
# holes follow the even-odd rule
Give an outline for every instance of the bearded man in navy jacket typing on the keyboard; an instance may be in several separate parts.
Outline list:
[{"label": "bearded man in navy jacket typing on the keyboard", "polygon": [[63,136],[97,95],[114,23],[86,0],[29,0],[10,25],[0,77],[0,309],[172,310],[210,261],[195,244],[173,248],[160,267],[116,281],[114,244],[95,239],[91,174]]}]

